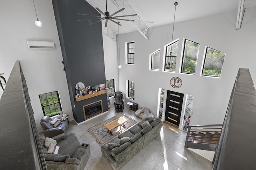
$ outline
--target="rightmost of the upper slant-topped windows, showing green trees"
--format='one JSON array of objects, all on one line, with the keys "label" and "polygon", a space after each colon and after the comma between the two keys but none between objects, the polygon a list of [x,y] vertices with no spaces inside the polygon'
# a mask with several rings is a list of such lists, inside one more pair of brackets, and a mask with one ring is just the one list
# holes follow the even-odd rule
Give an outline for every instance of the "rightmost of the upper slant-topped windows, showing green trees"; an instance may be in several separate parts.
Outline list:
[{"label": "rightmost of the upper slant-topped windows, showing green trees", "polygon": [[220,77],[225,53],[206,47],[202,75]]}]

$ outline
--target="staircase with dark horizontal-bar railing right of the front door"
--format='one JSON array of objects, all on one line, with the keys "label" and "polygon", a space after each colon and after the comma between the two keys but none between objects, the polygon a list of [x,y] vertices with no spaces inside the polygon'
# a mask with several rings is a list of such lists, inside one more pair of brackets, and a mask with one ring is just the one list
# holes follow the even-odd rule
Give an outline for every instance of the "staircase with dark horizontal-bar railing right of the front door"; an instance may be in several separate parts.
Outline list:
[{"label": "staircase with dark horizontal-bar railing right of the front door", "polygon": [[215,151],[223,125],[188,126],[186,148]]}]

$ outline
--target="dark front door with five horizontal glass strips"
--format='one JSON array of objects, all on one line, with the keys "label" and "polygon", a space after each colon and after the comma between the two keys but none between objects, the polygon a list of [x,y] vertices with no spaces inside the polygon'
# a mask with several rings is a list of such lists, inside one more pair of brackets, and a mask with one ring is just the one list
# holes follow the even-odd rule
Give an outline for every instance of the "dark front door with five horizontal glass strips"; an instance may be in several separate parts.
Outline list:
[{"label": "dark front door with five horizontal glass strips", "polygon": [[165,120],[177,126],[180,125],[183,96],[182,93],[167,90]]}]

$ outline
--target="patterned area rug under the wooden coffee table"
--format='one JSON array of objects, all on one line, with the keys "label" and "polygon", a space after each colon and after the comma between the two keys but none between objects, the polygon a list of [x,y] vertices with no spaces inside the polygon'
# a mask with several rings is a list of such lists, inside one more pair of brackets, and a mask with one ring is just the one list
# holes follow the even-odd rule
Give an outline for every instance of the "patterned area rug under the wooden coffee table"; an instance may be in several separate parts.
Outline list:
[{"label": "patterned area rug under the wooden coffee table", "polygon": [[[107,123],[110,123],[110,122],[114,121],[115,119],[118,119],[119,117],[122,117],[122,116],[124,116],[128,120],[126,123],[124,123],[125,128],[122,126],[119,126],[112,131],[113,135],[110,135],[110,133],[108,133],[108,129],[106,129],[106,127],[104,127],[104,125],[106,125]],[[120,113],[118,115],[115,115],[114,117],[111,117],[108,120],[103,121],[102,123],[99,123],[98,125],[90,127],[87,131],[92,135],[92,137],[95,139],[95,141],[98,142],[98,144],[101,146],[104,143],[106,143],[107,141],[109,141],[110,139],[114,138],[115,136],[119,135],[120,133],[122,133],[123,131],[125,131],[132,125],[134,125],[135,123],[137,123],[136,120],[130,118],[129,116],[127,116],[123,113]]]}]

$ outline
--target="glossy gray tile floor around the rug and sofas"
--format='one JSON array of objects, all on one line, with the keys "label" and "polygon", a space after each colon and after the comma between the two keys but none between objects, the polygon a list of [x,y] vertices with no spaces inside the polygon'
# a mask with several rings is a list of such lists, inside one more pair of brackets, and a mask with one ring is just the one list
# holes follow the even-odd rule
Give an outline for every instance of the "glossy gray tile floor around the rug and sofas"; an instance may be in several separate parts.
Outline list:
[{"label": "glossy gray tile floor around the rug and sofas", "polygon": [[[135,116],[134,111],[128,109],[128,106],[125,106],[123,113],[138,122],[141,121]],[[112,170],[110,164],[102,156],[100,146],[87,132],[87,129],[117,114],[119,113],[111,105],[108,113],[89,119],[81,125],[70,121],[68,134],[75,132],[80,143],[90,144],[91,156],[84,170]],[[184,147],[185,139],[184,131],[179,130],[174,133],[162,128],[160,134],[120,170],[212,170],[212,162]]]}]

